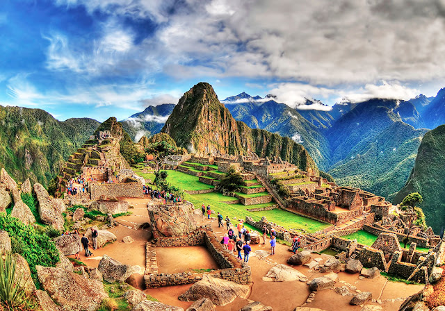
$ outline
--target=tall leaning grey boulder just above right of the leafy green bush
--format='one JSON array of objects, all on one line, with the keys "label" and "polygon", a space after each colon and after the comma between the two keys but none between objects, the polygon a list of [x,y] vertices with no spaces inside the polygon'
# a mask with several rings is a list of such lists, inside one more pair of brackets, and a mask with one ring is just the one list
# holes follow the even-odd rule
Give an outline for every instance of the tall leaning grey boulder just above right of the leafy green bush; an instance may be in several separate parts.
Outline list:
[{"label": "tall leaning grey boulder just above right of the leafy green bush", "polygon": [[40,183],[34,184],[34,192],[39,202],[39,215],[42,222],[63,231],[65,220],[62,217],[58,204],[49,196],[47,190]]}]

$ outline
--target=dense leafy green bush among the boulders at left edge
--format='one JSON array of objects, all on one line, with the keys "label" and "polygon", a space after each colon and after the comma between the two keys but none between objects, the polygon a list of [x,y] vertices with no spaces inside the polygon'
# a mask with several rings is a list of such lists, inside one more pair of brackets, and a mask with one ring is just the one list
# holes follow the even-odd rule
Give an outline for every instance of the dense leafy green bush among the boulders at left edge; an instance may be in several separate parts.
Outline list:
[{"label": "dense leafy green bush among the boulders at left edge", "polygon": [[54,242],[46,234],[38,233],[33,226],[0,213],[0,229],[8,232],[13,253],[19,253],[28,262],[35,283],[38,283],[36,265],[54,267],[59,261]]}]

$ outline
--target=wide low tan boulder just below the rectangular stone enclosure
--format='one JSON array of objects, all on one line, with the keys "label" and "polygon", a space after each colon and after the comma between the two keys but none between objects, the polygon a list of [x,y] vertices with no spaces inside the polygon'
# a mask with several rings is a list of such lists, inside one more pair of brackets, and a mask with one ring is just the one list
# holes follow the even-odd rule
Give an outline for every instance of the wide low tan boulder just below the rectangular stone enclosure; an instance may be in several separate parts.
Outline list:
[{"label": "wide low tan boulder just below the rectangular stone enclosure", "polygon": [[215,305],[227,305],[227,303],[234,301],[236,297],[247,298],[249,292],[250,287],[248,285],[204,275],[202,280],[193,284],[187,292],[181,294],[179,300],[197,301],[198,299],[208,298]]}]

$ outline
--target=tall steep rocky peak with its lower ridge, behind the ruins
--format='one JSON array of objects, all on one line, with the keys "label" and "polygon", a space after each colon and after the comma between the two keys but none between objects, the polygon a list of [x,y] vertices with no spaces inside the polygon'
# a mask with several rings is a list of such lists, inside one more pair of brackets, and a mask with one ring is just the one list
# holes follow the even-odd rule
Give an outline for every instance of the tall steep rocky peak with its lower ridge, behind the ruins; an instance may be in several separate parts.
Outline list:
[{"label": "tall steep rocky peak with its lower ridge, behind the ruins", "polygon": [[162,132],[170,135],[177,146],[193,153],[280,156],[300,169],[318,172],[304,146],[289,137],[236,121],[209,83],[198,83],[179,99]]}]

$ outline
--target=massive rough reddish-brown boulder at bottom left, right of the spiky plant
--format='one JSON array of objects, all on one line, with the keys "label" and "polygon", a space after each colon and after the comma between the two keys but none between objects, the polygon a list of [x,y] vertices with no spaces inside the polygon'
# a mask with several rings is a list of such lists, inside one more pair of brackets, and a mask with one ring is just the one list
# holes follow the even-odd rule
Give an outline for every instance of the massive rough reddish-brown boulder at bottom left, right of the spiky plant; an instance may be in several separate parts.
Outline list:
[{"label": "massive rough reddish-brown boulder at bottom left, right of the spiky plant", "polygon": [[36,266],[35,269],[43,288],[63,310],[94,311],[108,298],[98,280],[60,268]]}]

